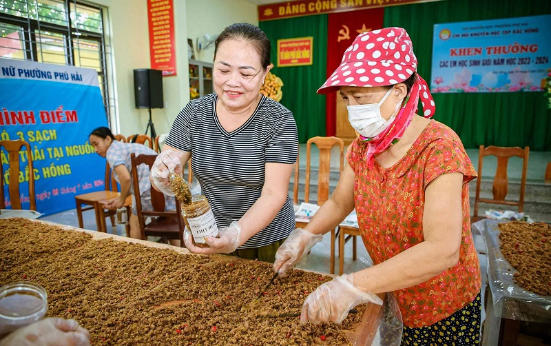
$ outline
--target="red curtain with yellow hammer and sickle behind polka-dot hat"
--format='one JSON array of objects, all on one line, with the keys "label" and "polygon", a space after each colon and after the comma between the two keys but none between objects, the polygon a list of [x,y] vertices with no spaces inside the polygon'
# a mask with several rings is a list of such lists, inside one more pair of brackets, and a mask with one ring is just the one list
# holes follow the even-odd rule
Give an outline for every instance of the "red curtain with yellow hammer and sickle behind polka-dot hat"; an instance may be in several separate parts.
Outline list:
[{"label": "red curtain with yellow hammer and sickle behind polka-dot hat", "polygon": [[[328,15],[327,30],[327,77],[331,76],[342,60],[342,54],[358,34],[381,29],[384,8],[331,13]],[[320,85],[321,86],[321,85]],[[326,96],[326,136],[335,136],[337,127],[336,92]]]}]

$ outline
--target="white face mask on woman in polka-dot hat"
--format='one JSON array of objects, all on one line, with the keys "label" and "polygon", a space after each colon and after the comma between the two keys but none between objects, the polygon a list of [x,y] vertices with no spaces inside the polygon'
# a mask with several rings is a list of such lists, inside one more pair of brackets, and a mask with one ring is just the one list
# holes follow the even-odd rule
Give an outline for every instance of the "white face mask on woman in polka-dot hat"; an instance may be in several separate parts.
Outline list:
[{"label": "white face mask on woman in polka-dot hat", "polygon": [[396,118],[395,114],[399,110],[402,101],[400,101],[394,110],[391,118],[384,120],[381,116],[381,105],[384,100],[391,94],[392,88],[386,92],[383,99],[379,103],[369,103],[368,105],[347,105],[349,111],[349,121],[354,130],[367,138],[373,138],[383,132]]}]

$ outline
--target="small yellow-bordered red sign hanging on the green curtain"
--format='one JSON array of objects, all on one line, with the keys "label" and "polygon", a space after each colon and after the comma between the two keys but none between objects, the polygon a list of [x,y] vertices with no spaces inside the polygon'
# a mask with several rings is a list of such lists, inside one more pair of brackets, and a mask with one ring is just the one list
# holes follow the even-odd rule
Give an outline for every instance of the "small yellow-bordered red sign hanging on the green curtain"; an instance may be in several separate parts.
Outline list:
[{"label": "small yellow-bordered red sign hanging on the green curtain", "polygon": [[312,65],[313,37],[278,40],[278,67]]}]

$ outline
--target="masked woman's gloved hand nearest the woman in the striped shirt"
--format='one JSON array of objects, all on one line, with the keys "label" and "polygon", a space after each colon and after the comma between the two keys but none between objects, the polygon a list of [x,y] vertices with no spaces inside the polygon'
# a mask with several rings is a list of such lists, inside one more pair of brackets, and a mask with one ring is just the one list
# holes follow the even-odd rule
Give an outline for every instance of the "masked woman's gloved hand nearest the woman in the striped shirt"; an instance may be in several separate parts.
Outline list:
[{"label": "masked woman's gloved hand nearest the woman in the striped shirt", "polygon": [[285,272],[294,267],[302,255],[308,253],[322,238],[321,234],[313,234],[302,228],[293,230],[280,246],[278,252],[275,252],[273,271],[278,272],[280,276],[285,276]]}]

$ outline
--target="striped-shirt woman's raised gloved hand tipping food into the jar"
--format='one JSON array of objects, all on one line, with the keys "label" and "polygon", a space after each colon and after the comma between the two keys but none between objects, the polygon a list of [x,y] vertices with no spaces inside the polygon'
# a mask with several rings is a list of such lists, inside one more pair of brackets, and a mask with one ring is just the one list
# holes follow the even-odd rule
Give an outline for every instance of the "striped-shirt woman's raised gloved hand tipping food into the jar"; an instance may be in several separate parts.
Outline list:
[{"label": "striped-shirt woman's raised gloved hand tipping food into the jar", "polygon": [[174,196],[174,192],[170,188],[170,172],[182,175],[182,156],[183,152],[171,149],[165,150],[157,155],[151,167],[151,172],[149,172],[149,176],[151,176],[151,180],[157,189],[167,196]]}]

